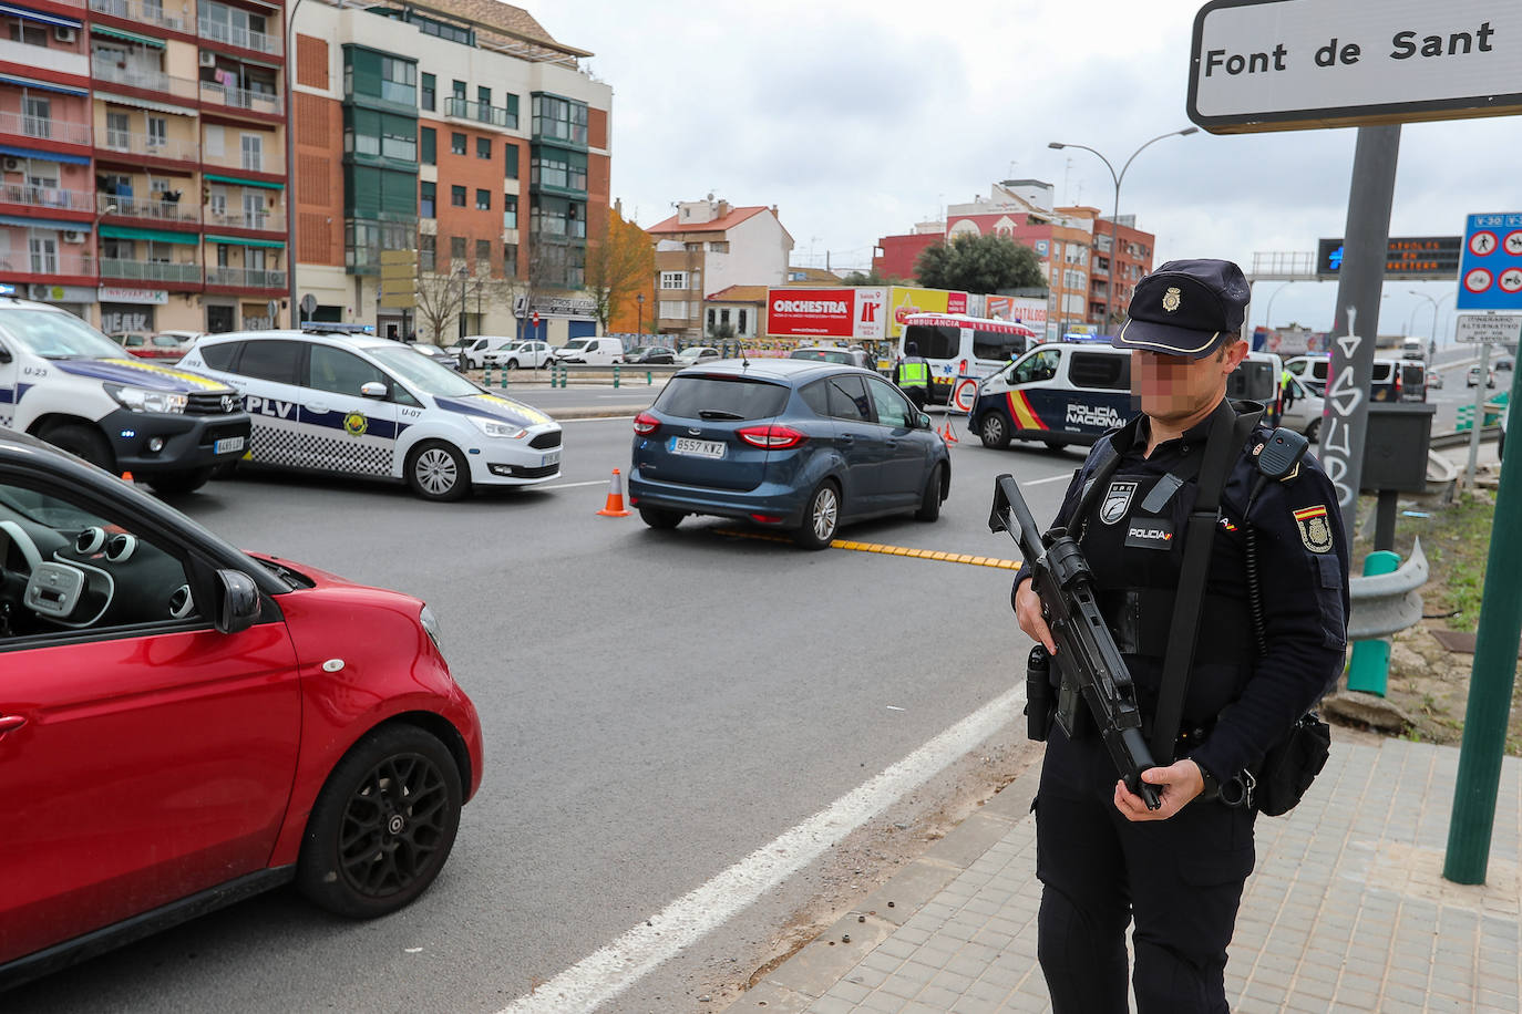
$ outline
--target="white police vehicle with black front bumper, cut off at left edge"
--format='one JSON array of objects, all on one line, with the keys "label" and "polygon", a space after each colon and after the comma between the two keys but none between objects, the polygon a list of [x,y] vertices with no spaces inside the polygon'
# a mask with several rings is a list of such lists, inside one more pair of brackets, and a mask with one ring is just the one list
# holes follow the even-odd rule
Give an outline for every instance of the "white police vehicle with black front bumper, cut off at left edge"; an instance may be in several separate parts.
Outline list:
[{"label": "white police vehicle with black front bumper, cut off at left edge", "polygon": [[128,356],[73,313],[0,298],[0,426],[158,493],[189,493],[248,442],[224,383]]}]

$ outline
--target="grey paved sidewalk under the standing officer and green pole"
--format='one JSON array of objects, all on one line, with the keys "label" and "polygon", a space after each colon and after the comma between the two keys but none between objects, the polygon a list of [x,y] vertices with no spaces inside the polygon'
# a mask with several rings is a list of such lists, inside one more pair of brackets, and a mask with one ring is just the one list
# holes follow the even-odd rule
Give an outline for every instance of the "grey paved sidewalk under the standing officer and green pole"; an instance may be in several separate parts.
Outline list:
[{"label": "grey paved sidewalk under the standing officer and green pole", "polygon": [[[1333,737],[1306,801],[1257,821],[1227,964],[1231,1009],[1516,1014],[1522,762],[1501,771],[1487,883],[1461,886],[1441,876],[1458,749]],[[1026,772],[729,1011],[1050,1009],[1036,965],[1035,786]]]}]

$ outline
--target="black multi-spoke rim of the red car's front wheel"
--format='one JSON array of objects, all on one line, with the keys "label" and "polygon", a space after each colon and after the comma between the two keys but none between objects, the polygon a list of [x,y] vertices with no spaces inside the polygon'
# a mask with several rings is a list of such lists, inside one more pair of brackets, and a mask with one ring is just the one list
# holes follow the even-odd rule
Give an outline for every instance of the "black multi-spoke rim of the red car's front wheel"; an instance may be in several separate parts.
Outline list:
[{"label": "black multi-spoke rim of the red car's front wheel", "polygon": [[449,791],[426,757],[387,757],[361,780],[344,807],[338,863],[368,897],[408,889],[428,873],[447,839]]}]

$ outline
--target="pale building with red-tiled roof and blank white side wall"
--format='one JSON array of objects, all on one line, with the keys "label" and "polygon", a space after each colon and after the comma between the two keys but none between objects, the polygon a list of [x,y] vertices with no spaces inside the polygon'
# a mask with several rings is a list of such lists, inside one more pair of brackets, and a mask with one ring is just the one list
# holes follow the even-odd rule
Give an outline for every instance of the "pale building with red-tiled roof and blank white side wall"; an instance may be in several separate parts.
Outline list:
[{"label": "pale building with red-tiled roof and blank white side wall", "polygon": [[656,327],[696,339],[706,333],[705,299],[712,293],[784,283],[793,237],[776,205],[734,207],[708,195],[676,208],[645,230],[656,245]]}]

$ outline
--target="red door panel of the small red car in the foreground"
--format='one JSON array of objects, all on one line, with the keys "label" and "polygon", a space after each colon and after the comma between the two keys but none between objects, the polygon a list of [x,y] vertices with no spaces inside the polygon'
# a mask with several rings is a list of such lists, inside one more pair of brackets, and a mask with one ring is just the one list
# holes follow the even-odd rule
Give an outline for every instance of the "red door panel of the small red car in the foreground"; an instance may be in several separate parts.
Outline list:
[{"label": "red door panel of the small red car in the foreground", "polygon": [[291,792],[283,622],[79,634],[0,652],[0,962],[263,868]]}]

